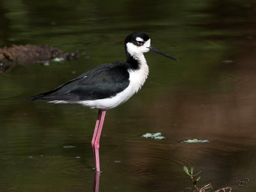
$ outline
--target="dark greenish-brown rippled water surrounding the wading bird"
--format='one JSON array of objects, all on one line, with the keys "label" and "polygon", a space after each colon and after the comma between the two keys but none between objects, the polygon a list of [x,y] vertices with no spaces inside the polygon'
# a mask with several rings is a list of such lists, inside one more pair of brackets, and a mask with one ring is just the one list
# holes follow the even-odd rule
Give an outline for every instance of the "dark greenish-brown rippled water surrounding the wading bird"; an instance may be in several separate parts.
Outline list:
[{"label": "dark greenish-brown rippled water surrounding the wading bird", "polygon": [[[192,191],[184,165],[202,170],[199,188],[255,191],[255,21],[254,1],[1,1],[1,47],[49,44],[80,58],[0,73],[0,191],[92,191],[97,109],[20,99],[124,61],[133,31],[180,61],[148,52],[142,90],[107,112],[99,191]],[[179,142],[193,138],[211,143]]]}]

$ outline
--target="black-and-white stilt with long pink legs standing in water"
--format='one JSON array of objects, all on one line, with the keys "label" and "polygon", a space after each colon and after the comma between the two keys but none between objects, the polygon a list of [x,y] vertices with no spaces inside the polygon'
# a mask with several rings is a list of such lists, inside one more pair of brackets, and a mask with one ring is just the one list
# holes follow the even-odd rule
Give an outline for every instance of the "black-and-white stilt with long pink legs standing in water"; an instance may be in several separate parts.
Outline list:
[{"label": "black-and-white stilt with long pink legs standing in water", "polygon": [[54,103],[77,103],[98,108],[99,113],[92,138],[96,171],[100,172],[99,141],[106,110],[127,101],[140,90],[148,76],[144,52],[155,51],[177,60],[150,46],[150,37],[135,32],[125,38],[126,62],[106,63],[84,72],[58,88],[25,100],[50,100]]}]

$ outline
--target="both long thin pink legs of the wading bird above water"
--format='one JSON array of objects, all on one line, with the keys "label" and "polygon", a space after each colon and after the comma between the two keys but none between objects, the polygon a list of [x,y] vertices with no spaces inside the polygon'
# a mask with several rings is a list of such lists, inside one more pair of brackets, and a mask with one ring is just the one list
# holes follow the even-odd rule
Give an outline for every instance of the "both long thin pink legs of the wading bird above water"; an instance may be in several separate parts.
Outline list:
[{"label": "both long thin pink legs of the wading bird above water", "polygon": [[[100,134],[102,131],[105,115],[106,115],[106,110],[99,109],[99,114],[98,114],[98,118],[96,121],[95,131],[94,131],[93,140],[92,140],[96,172],[100,172],[100,158],[99,158]],[[93,143],[93,141],[94,141],[94,143]]]}]

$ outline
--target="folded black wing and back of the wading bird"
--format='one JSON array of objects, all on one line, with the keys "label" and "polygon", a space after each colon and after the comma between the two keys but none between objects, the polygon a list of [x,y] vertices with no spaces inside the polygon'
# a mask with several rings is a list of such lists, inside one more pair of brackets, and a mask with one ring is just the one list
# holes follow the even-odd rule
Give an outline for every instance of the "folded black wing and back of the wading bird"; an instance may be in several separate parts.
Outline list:
[{"label": "folded black wing and back of the wading bird", "polygon": [[58,88],[24,100],[97,100],[115,96],[129,85],[129,64],[99,65]]}]

